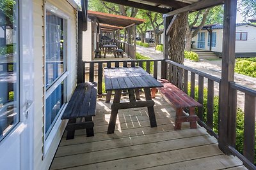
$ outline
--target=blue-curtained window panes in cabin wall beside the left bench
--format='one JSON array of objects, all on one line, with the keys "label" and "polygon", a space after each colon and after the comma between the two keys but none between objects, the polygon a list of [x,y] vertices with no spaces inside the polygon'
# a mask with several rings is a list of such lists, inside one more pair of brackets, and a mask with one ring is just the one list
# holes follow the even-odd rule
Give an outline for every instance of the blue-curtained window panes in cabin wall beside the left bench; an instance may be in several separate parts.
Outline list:
[{"label": "blue-curtained window panes in cabin wall beside the left bench", "polygon": [[45,136],[47,138],[66,101],[67,20],[47,10],[45,25]]}]

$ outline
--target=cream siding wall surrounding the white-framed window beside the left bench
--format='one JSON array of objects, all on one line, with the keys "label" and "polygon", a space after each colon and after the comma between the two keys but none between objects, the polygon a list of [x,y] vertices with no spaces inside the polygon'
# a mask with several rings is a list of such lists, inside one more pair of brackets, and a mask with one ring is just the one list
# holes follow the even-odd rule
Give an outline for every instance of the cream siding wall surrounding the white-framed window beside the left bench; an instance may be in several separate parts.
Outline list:
[{"label": "cream siding wall surrounding the white-framed window beside the left bench", "polygon": [[34,169],[49,169],[51,160],[58,147],[65,122],[60,128],[49,148],[44,155],[44,4],[51,3],[64,13],[70,16],[70,65],[68,66],[69,89],[70,93],[76,87],[77,75],[77,13],[74,8],[63,0],[33,0],[33,19],[34,19],[34,54],[35,54],[35,122],[34,122]]}]

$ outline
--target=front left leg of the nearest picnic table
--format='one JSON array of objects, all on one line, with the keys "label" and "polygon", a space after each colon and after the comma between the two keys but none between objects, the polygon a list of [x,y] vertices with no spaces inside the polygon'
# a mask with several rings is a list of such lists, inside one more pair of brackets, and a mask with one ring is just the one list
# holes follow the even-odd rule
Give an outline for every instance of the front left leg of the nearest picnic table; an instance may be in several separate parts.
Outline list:
[{"label": "front left leg of the nearest picnic table", "polygon": [[[113,104],[120,103],[122,90],[115,90],[115,97]],[[111,109],[111,115],[109,119],[108,124],[108,134],[113,134],[115,132],[115,126],[116,126],[116,117],[117,117],[118,109],[112,110]]]}]

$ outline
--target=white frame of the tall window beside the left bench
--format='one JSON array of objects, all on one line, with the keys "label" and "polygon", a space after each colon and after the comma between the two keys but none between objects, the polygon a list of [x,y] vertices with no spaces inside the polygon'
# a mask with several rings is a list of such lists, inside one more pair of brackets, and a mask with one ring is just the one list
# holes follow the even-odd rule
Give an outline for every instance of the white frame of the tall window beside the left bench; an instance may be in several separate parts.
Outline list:
[{"label": "white frame of the tall window beside the left bench", "polygon": [[[46,16],[46,11],[50,11],[54,15],[66,20],[66,29],[67,29],[67,31],[66,31],[67,45],[66,46],[67,46],[67,49],[66,49],[66,56],[64,56],[64,59],[63,59],[66,62],[66,64],[65,64],[66,71],[63,74],[61,74],[61,76],[56,81],[53,82],[51,87],[46,88],[46,86],[44,85],[45,86],[44,87],[44,114],[46,113],[45,104],[46,104],[47,97],[49,97],[51,95],[51,93],[58,87],[58,85],[60,85],[60,83],[62,81],[65,81],[64,99],[66,99],[66,101],[67,101],[67,96],[69,93],[68,89],[70,89],[69,88],[70,83],[68,81],[69,80],[68,71],[70,70],[69,69],[69,67],[70,67],[70,16],[67,15],[66,13],[64,13],[63,11],[61,11],[56,6],[52,5],[51,3],[45,3],[44,16]],[[46,17],[44,18],[44,23],[46,24]],[[46,35],[46,29],[44,29],[44,34]],[[44,39],[44,44],[46,44],[46,37]],[[46,48],[45,48],[45,54],[46,54]],[[44,64],[46,64],[45,59],[44,59]],[[46,68],[44,69],[44,75],[45,74],[46,74]],[[44,82],[46,82],[46,77],[44,76],[44,78],[45,78]],[[47,155],[47,152],[49,151],[52,141],[54,140],[54,137],[56,136],[57,132],[60,130],[59,128],[61,125],[61,116],[63,115],[63,112],[65,111],[66,107],[67,107],[67,103],[63,104],[63,106],[61,107],[60,113],[57,116],[58,118],[56,119],[56,122],[54,123],[51,130],[49,130],[51,132],[49,133],[47,138],[46,138],[46,131],[45,131],[45,116],[44,116],[44,157],[45,157],[45,155]]]}]

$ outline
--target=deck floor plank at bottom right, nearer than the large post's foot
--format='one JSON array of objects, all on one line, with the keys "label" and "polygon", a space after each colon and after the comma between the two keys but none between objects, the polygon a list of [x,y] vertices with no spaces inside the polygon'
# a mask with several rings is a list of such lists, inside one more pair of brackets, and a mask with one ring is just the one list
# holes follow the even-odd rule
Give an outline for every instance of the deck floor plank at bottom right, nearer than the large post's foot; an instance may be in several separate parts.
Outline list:
[{"label": "deck floor plank at bottom right, nearer than the large post's foot", "polygon": [[227,155],[216,155],[213,157],[205,157],[202,159],[188,160],[184,162],[177,162],[175,164],[167,164],[163,166],[156,166],[147,168],[148,170],[209,170],[209,169],[224,169],[229,167],[237,168],[236,166],[242,165],[243,162],[237,160],[236,157],[231,157]]}]

